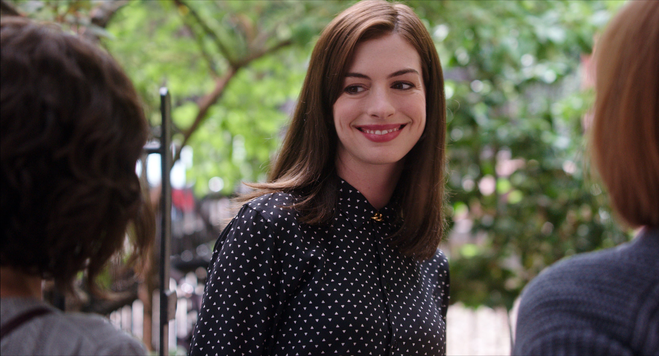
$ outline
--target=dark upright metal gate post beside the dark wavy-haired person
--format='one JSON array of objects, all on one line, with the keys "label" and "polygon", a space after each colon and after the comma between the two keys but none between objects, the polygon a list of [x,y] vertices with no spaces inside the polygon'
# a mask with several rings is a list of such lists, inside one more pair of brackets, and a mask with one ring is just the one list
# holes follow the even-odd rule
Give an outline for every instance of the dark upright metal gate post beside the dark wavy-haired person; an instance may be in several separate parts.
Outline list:
[{"label": "dark upright metal gate post beside the dark wavy-haired person", "polygon": [[169,172],[172,166],[171,153],[171,99],[167,88],[160,88],[160,162],[161,162],[161,193],[160,193],[160,342],[159,355],[169,355],[169,257],[171,255],[171,182]]}]

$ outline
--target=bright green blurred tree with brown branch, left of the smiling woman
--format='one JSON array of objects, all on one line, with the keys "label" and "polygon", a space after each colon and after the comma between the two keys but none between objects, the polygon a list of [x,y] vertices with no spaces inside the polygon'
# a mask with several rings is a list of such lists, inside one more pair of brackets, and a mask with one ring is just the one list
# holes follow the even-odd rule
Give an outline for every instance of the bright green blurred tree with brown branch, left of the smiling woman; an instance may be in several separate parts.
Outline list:
[{"label": "bright green blurred tree with brown branch, left of the smiling woman", "polygon": [[[194,151],[198,195],[263,180],[301,88],[309,43],[337,2],[134,1],[105,45],[131,73],[154,124],[158,86],[173,93],[173,140]],[[320,6],[322,5],[322,6]],[[177,154],[177,157],[178,154]]]}]

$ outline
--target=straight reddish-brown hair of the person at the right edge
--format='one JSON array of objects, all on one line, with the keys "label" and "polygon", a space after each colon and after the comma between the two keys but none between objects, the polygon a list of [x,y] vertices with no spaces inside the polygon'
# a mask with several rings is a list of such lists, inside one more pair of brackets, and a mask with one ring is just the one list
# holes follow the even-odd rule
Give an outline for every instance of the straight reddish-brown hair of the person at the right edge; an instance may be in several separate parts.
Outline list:
[{"label": "straight reddish-brown hair of the person at the right edge", "polygon": [[659,1],[629,1],[595,59],[595,166],[625,223],[659,226]]}]

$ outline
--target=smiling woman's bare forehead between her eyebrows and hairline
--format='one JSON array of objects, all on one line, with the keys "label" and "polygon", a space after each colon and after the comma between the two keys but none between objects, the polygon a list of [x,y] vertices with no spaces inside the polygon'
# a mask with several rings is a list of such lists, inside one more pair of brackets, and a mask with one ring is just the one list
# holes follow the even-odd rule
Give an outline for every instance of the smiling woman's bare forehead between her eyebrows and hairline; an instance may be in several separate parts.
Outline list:
[{"label": "smiling woman's bare forehead between her eyebrows and hairline", "polygon": [[421,73],[418,52],[399,34],[387,34],[358,43],[348,72],[391,74],[405,68]]}]

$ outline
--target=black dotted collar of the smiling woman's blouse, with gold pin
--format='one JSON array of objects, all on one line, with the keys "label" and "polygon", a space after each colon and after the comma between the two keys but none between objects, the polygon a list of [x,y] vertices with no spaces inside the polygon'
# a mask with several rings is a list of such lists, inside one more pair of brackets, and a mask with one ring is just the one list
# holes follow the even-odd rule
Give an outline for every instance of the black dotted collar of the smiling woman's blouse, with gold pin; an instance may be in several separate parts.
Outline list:
[{"label": "black dotted collar of the smiling woman's blouse, with gold pin", "polygon": [[343,215],[355,228],[358,228],[364,222],[371,220],[373,216],[376,216],[376,213],[382,215],[382,223],[391,224],[395,220],[395,215],[397,209],[395,209],[395,203],[393,199],[389,203],[380,209],[375,209],[373,205],[368,203],[366,197],[360,193],[357,189],[351,186],[348,182],[339,177],[339,188],[338,188],[338,197],[339,201],[337,203],[337,208],[339,213]]}]

